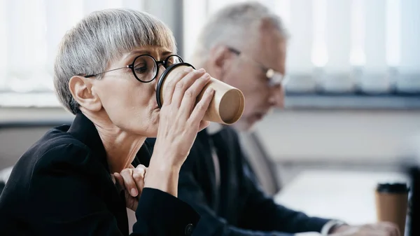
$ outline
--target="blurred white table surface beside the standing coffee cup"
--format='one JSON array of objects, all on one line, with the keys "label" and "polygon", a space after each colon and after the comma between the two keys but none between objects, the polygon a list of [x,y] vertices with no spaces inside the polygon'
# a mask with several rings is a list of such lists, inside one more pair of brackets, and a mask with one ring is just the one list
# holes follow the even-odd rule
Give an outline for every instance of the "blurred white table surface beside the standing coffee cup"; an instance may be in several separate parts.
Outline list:
[{"label": "blurred white table surface beside the standing coffee cup", "polygon": [[299,174],[274,199],[309,216],[336,218],[351,225],[374,223],[377,183],[408,180],[397,172],[310,170]]}]

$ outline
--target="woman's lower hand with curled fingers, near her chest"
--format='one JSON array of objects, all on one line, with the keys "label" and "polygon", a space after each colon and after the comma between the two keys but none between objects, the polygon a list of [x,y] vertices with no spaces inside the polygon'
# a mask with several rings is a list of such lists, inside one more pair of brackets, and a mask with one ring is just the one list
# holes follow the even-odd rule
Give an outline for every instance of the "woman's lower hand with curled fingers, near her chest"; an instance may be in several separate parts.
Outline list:
[{"label": "woman's lower hand with curled fingers, near her chest", "polygon": [[139,204],[139,197],[144,188],[144,176],[147,168],[144,165],[138,165],[123,169],[120,173],[114,173],[116,182],[124,190],[125,204],[127,208],[136,211]]}]

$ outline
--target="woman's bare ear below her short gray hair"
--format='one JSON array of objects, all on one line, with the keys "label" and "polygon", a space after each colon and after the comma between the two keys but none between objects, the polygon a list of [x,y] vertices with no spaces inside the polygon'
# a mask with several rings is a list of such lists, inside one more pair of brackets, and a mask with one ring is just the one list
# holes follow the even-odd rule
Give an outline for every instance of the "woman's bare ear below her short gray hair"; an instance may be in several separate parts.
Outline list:
[{"label": "woman's bare ear below her short gray hair", "polygon": [[100,111],[102,102],[98,94],[94,92],[92,82],[90,78],[73,76],[69,81],[69,89],[80,106],[90,111]]}]

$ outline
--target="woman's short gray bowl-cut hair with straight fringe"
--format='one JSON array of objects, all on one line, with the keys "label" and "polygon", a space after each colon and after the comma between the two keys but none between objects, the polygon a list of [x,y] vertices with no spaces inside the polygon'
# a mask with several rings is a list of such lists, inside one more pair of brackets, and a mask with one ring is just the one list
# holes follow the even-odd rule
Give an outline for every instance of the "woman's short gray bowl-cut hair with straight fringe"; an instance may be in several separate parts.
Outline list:
[{"label": "woman's short gray bowl-cut hair with straight fringe", "polygon": [[110,62],[141,46],[165,46],[176,52],[171,30],[148,13],[107,9],[87,15],[65,34],[59,46],[54,66],[59,102],[76,114],[79,104],[69,90],[70,78],[106,71]]}]

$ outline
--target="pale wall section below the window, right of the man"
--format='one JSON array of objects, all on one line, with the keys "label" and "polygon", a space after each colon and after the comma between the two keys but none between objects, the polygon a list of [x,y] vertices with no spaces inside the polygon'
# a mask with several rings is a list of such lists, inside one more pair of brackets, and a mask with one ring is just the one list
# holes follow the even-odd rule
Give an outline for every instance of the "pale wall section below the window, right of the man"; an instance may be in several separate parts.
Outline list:
[{"label": "pale wall section below the window, right of the man", "polygon": [[256,128],[276,161],[393,162],[420,135],[420,111],[276,111]]}]

